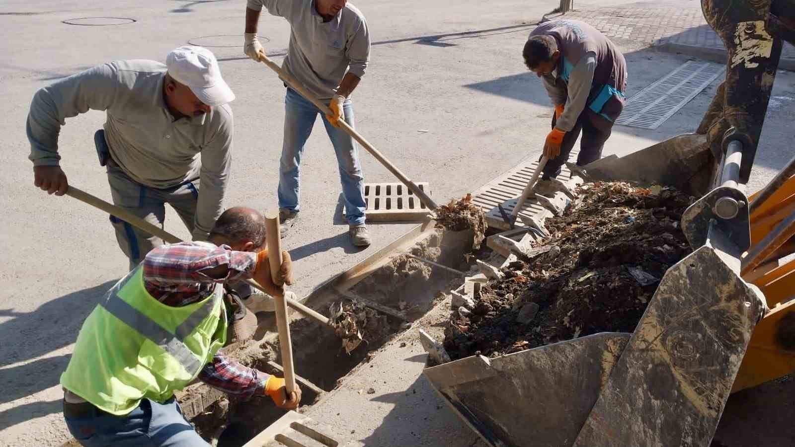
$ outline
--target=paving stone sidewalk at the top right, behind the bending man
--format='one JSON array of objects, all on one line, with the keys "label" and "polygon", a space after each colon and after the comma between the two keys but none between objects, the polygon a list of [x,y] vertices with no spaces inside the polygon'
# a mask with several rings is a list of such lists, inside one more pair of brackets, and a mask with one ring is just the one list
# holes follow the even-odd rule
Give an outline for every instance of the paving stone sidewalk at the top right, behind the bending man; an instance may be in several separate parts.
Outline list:
[{"label": "paving stone sidewalk at the top right, behind the bending man", "polygon": [[[724,61],[726,49],[701,12],[696,0],[638,2],[622,6],[577,8],[555,14],[550,20],[573,18],[587,21],[608,37],[661,47],[704,59]],[[710,57],[712,56],[712,57]],[[795,63],[795,49],[784,45],[781,68]],[[787,68],[792,70],[793,68]]]}]

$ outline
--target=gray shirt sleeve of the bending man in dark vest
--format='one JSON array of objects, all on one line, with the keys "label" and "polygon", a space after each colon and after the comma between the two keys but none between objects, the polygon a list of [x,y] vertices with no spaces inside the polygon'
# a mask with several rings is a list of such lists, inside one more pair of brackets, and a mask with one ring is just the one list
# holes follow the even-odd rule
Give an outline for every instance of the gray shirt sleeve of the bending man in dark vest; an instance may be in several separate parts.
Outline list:
[{"label": "gray shirt sleeve of the bending man in dark vest", "polygon": [[568,132],[574,128],[574,124],[585,109],[585,104],[588,103],[595,69],[596,55],[594,52],[587,52],[569,73],[568,84],[563,84],[562,81],[556,82],[560,76],[557,70],[550,75],[542,76],[544,87],[553,105],[565,104],[563,115],[560,115],[555,122],[555,127],[558,129]]}]

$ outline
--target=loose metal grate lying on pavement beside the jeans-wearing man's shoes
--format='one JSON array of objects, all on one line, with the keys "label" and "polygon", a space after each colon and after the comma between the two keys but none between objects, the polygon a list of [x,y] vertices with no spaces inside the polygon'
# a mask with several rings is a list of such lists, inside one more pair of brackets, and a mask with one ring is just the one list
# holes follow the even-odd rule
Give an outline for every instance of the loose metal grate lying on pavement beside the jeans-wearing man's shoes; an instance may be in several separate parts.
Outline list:
[{"label": "loose metal grate lying on pavement beside the jeans-wearing man's shoes", "polygon": [[[417,187],[431,195],[428,182],[417,182]],[[366,183],[364,203],[367,220],[421,220],[429,214],[425,204],[402,183]]]}]

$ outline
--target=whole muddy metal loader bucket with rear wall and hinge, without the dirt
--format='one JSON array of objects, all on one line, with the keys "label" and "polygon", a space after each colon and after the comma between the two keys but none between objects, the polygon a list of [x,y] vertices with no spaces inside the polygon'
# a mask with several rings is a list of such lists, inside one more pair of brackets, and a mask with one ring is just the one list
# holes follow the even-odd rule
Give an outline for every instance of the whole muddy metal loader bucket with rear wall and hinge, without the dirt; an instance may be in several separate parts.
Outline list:
[{"label": "whole muddy metal loader bucket with rear wall and hinge, without the dirt", "polygon": [[708,445],[767,311],[740,273],[751,245],[741,150],[716,160],[704,135],[683,134],[585,166],[586,181],[700,196],[681,222],[692,254],[665,273],[633,333],[444,363],[425,369],[432,386],[488,445]]}]

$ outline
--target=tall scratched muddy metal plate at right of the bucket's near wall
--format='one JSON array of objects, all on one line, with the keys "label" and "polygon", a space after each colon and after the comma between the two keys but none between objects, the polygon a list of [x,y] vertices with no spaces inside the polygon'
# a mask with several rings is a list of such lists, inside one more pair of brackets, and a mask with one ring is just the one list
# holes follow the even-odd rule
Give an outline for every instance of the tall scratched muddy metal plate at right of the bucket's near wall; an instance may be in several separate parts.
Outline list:
[{"label": "tall scratched muddy metal plate at right of the bucket's near wall", "polygon": [[761,313],[712,247],[669,270],[575,445],[708,445]]}]

